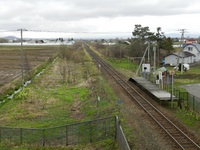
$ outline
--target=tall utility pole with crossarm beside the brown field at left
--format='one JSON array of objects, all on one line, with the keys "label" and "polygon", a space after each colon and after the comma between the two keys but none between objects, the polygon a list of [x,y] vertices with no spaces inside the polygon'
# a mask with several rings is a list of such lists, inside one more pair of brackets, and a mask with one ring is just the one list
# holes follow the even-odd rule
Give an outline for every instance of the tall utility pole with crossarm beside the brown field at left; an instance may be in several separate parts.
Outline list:
[{"label": "tall utility pole with crossarm beside the brown field at left", "polygon": [[21,71],[22,71],[22,88],[24,87],[24,50],[23,50],[23,31],[27,31],[26,29],[18,29],[21,33]]}]

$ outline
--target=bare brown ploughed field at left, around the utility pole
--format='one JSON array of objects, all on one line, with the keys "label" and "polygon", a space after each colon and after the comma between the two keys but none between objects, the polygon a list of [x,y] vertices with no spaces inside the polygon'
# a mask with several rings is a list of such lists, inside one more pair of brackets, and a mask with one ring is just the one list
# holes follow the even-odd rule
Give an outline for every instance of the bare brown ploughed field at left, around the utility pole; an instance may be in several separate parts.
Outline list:
[{"label": "bare brown ploughed field at left, around the utility pole", "polygon": [[0,46],[0,93],[15,89],[16,85],[11,83],[21,76],[22,62],[24,75],[31,78],[38,73],[37,67],[53,59],[58,51],[59,46],[24,46],[23,51],[20,46]]}]

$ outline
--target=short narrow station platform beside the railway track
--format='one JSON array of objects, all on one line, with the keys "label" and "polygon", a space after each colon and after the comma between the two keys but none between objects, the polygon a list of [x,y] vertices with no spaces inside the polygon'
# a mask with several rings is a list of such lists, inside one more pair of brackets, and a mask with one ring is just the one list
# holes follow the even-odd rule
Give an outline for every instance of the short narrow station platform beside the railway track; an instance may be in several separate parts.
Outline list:
[{"label": "short narrow station platform beside the railway track", "polygon": [[[152,82],[146,80],[142,77],[134,77],[130,78],[129,81],[136,84],[140,89],[145,91],[148,95],[152,98],[160,101],[170,101],[171,93],[161,89],[157,85],[153,84]],[[176,100],[176,97],[173,95],[173,100]]]}]

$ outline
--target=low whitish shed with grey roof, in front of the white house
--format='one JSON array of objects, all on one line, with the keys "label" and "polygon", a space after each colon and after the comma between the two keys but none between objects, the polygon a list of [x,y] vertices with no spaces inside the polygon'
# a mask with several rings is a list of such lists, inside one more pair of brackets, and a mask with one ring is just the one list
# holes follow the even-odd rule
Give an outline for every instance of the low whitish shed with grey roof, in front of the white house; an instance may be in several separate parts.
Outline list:
[{"label": "low whitish shed with grey roof, in front of the white house", "polygon": [[194,62],[194,58],[195,55],[190,52],[176,52],[165,56],[165,65],[176,66],[177,63],[179,64],[182,62],[184,64],[190,64]]}]

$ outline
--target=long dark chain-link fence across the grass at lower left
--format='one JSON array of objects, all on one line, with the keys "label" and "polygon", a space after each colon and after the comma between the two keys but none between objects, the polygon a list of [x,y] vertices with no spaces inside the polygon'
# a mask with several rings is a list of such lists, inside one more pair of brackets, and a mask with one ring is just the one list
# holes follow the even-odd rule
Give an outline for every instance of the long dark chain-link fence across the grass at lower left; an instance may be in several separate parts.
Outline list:
[{"label": "long dark chain-link fence across the grass at lower left", "polygon": [[115,117],[46,129],[0,127],[0,142],[38,146],[75,145],[115,138]]}]

